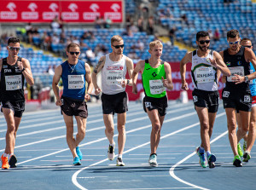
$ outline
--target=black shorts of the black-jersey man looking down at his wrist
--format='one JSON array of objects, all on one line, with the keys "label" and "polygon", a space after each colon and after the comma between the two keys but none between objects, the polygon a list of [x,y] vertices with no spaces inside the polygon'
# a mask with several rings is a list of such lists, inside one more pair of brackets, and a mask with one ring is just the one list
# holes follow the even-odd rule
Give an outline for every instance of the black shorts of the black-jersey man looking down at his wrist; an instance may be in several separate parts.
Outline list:
[{"label": "black shorts of the black-jersey man looking down at his wrist", "polygon": [[222,90],[222,99],[224,108],[235,108],[244,112],[252,110],[252,95],[250,89],[244,92],[235,92],[224,88]]}]

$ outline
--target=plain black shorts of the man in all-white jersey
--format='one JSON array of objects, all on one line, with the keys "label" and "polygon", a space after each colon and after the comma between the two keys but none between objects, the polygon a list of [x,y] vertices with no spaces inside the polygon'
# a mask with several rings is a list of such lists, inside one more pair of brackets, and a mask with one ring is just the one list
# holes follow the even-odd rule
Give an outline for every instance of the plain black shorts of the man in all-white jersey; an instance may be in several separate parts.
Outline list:
[{"label": "plain black shorts of the man in all-white jersey", "polygon": [[103,114],[127,112],[128,105],[126,92],[120,92],[115,95],[106,95],[102,93],[102,111]]}]

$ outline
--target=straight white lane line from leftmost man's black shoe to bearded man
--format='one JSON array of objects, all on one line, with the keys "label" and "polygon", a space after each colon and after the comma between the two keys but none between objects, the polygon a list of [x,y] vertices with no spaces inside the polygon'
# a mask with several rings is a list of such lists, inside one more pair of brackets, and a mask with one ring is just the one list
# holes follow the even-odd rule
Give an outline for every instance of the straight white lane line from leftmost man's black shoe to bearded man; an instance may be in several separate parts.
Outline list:
[{"label": "straight white lane line from leftmost man's black shoe to bearded man", "polygon": [[[176,117],[176,118],[166,119],[165,123],[171,122],[171,121],[174,121],[174,120],[178,120],[178,119],[180,119],[180,118],[186,118],[186,117],[189,117],[189,116],[192,116],[192,115],[195,115],[195,112],[192,112],[192,113],[190,112],[190,113],[184,114],[184,115],[182,115],[182,116],[178,116],[178,117]],[[137,120],[137,119],[134,119],[134,120]],[[138,131],[138,130],[144,130],[144,129],[147,129],[147,128],[150,128],[150,127],[152,127],[151,124],[148,124],[148,125],[146,125],[146,126],[143,126],[143,127],[140,127],[140,128],[134,129],[134,130],[126,131],[126,134],[129,134],[129,133],[132,133],[132,132],[135,132],[135,131]],[[180,130],[178,130],[178,131],[180,131]],[[182,130],[181,130],[181,131],[182,131]],[[66,136],[66,135],[65,135],[65,136]],[[113,135],[113,136],[116,137],[116,136],[118,136],[118,134]],[[58,138],[58,137],[54,137],[54,138]],[[96,142],[99,142],[99,141],[105,141],[105,140],[107,140],[107,137],[103,137],[103,138],[98,139],[98,140],[96,140],[96,141],[90,141],[90,142],[81,144],[81,145],[79,145],[79,147],[84,147],[84,146],[86,146],[86,145],[90,145],[90,144],[93,144],[93,143],[96,143]],[[43,141],[45,141],[45,140],[43,140]],[[39,143],[39,142],[38,142],[38,143]],[[35,144],[35,142],[32,142],[32,143],[30,143],[30,144],[33,145],[33,144]],[[26,146],[26,145],[23,145],[23,147],[25,147],[25,146]],[[15,147],[15,148],[17,148],[17,147]],[[131,149],[132,149],[132,148],[131,148]],[[69,148],[62,149],[62,150],[57,151],[57,152],[55,152],[55,153],[49,153],[49,154],[46,154],[46,155],[43,155],[43,156],[40,156],[40,157],[37,157],[37,158],[32,158],[32,159],[29,159],[29,160],[20,162],[20,163],[18,163],[18,164],[23,164],[23,163],[30,162],[30,161],[32,161],[32,160],[36,160],[36,159],[39,159],[39,158],[48,157],[48,156],[51,156],[51,155],[54,155],[54,154],[57,154],[57,153],[65,152],[65,151],[67,151],[67,150],[69,150]],[[0,151],[3,151],[3,150],[0,150]],[[127,152],[127,153],[128,153],[128,152]],[[107,159],[107,160],[108,160],[108,159]],[[17,164],[17,165],[18,165],[18,164]]]}]

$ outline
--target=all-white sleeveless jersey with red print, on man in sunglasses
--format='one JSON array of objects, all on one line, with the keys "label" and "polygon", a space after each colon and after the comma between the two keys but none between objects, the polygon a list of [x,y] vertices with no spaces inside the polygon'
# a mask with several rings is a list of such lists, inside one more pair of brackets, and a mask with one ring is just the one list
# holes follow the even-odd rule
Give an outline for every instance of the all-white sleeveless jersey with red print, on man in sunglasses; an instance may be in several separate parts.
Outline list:
[{"label": "all-white sleeveless jersey with red print, on man in sunglasses", "polygon": [[127,72],[125,60],[125,55],[119,61],[110,60],[109,54],[106,55],[105,65],[102,68],[102,93],[115,95],[125,91],[120,84]]}]

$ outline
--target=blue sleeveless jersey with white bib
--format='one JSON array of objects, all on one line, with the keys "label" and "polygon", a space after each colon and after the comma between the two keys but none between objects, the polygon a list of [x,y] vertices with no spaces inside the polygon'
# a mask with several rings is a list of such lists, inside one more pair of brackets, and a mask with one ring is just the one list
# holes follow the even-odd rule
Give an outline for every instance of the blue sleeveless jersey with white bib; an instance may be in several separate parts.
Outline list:
[{"label": "blue sleeveless jersey with white bib", "polygon": [[83,101],[85,95],[85,63],[79,60],[76,65],[63,62],[61,79],[63,83],[63,96]]}]

